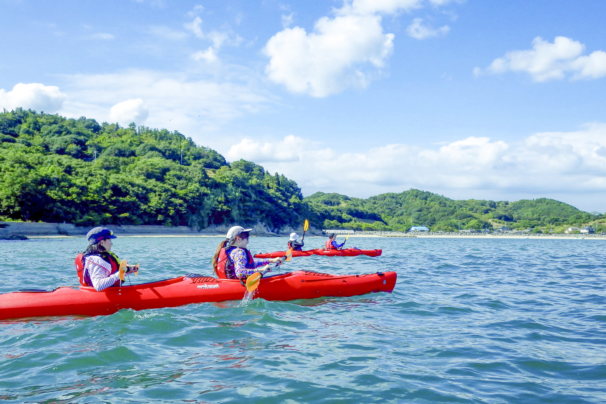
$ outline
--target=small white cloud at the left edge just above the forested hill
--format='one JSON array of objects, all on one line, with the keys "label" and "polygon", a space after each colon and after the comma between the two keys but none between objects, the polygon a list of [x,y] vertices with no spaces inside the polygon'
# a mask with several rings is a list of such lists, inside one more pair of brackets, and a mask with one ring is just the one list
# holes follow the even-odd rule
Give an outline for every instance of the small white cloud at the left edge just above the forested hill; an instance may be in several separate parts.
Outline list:
[{"label": "small white cloud at the left edge just above the forested hill", "polygon": [[11,91],[0,89],[0,108],[8,110],[22,107],[38,112],[55,113],[61,109],[67,95],[56,86],[44,86],[37,82],[15,84]]}]

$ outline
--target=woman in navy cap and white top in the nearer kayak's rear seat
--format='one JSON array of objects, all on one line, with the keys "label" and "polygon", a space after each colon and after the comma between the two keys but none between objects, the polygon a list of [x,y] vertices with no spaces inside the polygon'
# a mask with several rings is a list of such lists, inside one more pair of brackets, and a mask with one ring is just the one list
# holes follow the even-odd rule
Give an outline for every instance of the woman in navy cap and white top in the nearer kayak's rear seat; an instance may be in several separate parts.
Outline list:
[{"label": "woman in navy cap and white top in the nearer kayak's rear seat", "polygon": [[[88,247],[84,254],[76,257],[76,269],[80,283],[102,291],[110,286],[120,286],[118,269],[120,261],[112,251],[112,238],[116,238],[107,227],[98,226],[86,235]],[[125,274],[135,272],[135,266],[128,265]]]}]

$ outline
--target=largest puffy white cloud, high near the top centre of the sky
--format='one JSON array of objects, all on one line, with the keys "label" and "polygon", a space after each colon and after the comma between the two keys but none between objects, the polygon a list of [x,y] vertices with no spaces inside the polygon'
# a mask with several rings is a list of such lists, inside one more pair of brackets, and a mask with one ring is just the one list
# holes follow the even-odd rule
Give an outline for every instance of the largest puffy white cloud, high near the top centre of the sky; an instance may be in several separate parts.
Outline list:
[{"label": "largest puffy white cloud, high near the top centre of the sky", "polygon": [[324,97],[347,87],[365,87],[370,77],[358,66],[383,67],[393,49],[393,34],[384,34],[377,15],[323,17],[314,32],[287,28],[265,45],[272,81],[295,93]]}]

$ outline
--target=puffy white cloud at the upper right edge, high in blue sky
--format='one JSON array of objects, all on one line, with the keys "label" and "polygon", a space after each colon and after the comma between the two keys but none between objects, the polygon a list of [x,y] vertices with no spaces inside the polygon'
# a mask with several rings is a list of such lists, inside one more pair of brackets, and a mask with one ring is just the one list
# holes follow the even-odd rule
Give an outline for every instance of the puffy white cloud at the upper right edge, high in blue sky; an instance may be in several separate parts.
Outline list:
[{"label": "puffy white cloud at the upper right edge, high in blue sky", "polygon": [[[534,38],[533,49],[512,50],[502,58],[494,59],[485,69],[488,73],[513,72],[530,73],[534,81],[563,79],[572,73],[571,79],[590,79],[606,76],[606,52],[596,50],[588,56],[582,56],[585,45],[565,36],[556,36],[553,43],[540,36]],[[474,74],[484,72],[479,67]]]}]

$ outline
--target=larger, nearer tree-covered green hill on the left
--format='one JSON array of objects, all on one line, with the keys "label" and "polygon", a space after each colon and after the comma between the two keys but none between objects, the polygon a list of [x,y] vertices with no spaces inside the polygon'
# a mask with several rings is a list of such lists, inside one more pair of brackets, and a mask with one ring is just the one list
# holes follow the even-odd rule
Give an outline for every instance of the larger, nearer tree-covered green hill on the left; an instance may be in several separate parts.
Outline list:
[{"label": "larger, nearer tree-covered green hill on the left", "polygon": [[0,140],[8,220],[278,228],[308,215],[295,181],[176,131],[17,109],[0,113]]}]

